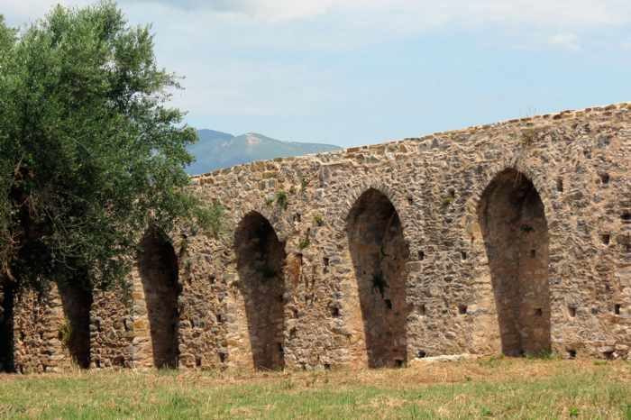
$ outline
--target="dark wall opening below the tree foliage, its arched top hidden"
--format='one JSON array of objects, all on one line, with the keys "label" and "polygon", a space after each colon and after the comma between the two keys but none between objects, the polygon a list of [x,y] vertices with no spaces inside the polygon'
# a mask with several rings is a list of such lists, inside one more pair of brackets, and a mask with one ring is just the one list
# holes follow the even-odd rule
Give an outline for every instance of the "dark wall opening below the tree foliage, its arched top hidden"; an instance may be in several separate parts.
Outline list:
[{"label": "dark wall opening below the tree foliage, its arched top hidden", "polygon": [[64,323],[59,327],[59,341],[72,361],[81,369],[90,367],[90,308],[92,293],[79,285],[59,282]]}]

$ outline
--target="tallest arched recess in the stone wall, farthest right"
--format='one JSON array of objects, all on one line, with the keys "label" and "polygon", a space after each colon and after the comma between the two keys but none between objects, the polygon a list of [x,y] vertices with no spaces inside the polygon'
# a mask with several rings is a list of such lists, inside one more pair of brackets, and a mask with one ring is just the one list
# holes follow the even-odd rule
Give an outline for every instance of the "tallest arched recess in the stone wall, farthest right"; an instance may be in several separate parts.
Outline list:
[{"label": "tallest arched recess in the stone wall, farthest right", "polygon": [[548,226],[541,197],[524,174],[507,169],[485,189],[478,215],[502,352],[550,352]]}]

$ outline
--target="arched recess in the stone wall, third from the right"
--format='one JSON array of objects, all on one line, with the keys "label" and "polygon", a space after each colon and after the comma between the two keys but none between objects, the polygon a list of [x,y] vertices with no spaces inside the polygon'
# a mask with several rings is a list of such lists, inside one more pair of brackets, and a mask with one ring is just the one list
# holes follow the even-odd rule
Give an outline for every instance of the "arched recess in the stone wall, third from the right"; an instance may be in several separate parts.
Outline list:
[{"label": "arched recess in the stone wall, third from the right", "polygon": [[285,243],[279,242],[270,222],[256,212],[243,217],[234,243],[254,367],[282,369],[285,366]]}]

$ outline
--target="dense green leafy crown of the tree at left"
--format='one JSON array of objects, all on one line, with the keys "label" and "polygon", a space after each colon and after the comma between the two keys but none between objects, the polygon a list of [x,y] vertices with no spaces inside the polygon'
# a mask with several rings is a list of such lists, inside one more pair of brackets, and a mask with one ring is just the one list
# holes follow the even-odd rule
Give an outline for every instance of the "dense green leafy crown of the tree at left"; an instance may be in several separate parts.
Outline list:
[{"label": "dense green leafy crown of the tree at left", "polygon": [[138,235],[216,227],[186,188],[197,133],[167,106],[148,27],[114,3],[57,6],[19,36],[0,21],[0,278],[106,287]]}]

